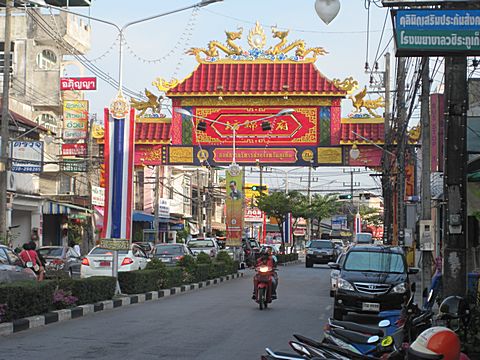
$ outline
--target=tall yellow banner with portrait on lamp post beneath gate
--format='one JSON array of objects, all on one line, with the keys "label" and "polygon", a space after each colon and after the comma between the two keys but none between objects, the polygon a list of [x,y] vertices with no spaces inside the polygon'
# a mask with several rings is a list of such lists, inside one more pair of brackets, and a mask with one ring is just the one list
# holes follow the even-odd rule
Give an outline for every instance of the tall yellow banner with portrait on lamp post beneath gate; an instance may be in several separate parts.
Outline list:
[{"label": "tall yellow banner with portrait on lamp post beneath gate", "polygon": [[241,246],[243,234],[243,171],[228,169],[227,174],[227,246]]}]

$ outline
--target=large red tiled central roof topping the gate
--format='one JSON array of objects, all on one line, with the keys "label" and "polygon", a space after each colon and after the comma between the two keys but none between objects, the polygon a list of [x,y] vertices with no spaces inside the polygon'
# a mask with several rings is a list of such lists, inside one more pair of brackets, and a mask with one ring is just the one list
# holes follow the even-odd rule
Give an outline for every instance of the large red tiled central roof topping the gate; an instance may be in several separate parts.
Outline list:
[{"label": "large red tiled central roof topping the gate", "polygon": [[197,69],[167,96],[211,94],[316,94],[344,96],[313,63],[212,63]]}]

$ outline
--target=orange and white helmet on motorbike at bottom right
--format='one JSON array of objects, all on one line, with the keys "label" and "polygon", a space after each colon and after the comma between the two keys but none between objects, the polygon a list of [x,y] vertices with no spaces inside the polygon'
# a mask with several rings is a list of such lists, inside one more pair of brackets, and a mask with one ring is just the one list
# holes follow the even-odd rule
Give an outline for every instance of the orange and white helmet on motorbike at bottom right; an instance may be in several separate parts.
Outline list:
[{"label": "orange and white helmet on motorbike at bottom right", "polygon": [[424,355],[443,355],[443,360],[460,359],[460,339],[453,330],[443,326],[425,330],[410,347]]}]

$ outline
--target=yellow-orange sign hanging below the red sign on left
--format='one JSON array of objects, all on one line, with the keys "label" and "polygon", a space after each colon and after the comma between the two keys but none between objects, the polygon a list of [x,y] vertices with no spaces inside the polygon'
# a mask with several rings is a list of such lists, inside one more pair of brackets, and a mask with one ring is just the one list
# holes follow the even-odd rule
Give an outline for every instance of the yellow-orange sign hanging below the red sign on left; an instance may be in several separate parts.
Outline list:
[{"label": "yellow-orange sign hanging below the red sign on left", "polygon": [[63,102],[63,138],[85,139],[88,129],[88,101],[65,100]]}]

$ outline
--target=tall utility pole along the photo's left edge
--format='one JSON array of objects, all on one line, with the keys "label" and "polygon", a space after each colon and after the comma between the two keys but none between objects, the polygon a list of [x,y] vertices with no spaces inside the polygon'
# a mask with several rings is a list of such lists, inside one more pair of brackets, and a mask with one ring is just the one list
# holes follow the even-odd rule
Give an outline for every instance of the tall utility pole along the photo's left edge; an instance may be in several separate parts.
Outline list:
[{"label": "tall utility pole along the photo's left edge", "polygon": [[3,94],[2,94],[2,128],[0,146],[0,241],[8,241],[7,224],[7,170],[8,170],[8,123],[10,119],[10,42],[12,30],[13,0],[7,0],[5,5],[5,40],[3,43]]}]

